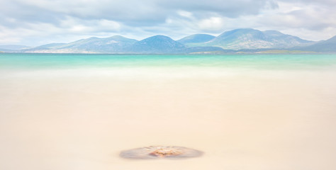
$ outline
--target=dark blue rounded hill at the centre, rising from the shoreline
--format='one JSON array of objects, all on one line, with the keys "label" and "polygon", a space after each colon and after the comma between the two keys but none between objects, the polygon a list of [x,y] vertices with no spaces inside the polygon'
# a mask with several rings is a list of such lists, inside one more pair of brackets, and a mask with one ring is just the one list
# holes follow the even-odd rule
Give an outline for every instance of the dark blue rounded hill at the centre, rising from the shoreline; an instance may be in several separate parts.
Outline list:
[{"label": "dark blue rounded hill at the centre, rising from the shoreline", "polygon": [[177,53],[184,50],[185,45],[172,40],[164,35],[155,35],[150,38],[145,38],[139,42],[135,42],[130,47],[126,48],[126,52],[133,53]]}]

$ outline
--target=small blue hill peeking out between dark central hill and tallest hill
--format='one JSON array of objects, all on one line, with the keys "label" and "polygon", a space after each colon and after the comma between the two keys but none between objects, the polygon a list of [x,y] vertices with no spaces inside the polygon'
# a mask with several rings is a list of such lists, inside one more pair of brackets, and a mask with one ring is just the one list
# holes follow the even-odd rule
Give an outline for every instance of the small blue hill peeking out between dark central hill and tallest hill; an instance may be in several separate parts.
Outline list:
[{"label": "small blue hill peeking out between dark central hill and tallest hill", "polygon": [[201,42],[208,42],[210,40],[213,40],[215,36],[208,35],[208,34],[194,34],[186,36],[185,38],[181,38],[181,40],[177,40],[177,42],[180,42],[184,45],[187,45],[189,47],[197,46],[198,43]]}]

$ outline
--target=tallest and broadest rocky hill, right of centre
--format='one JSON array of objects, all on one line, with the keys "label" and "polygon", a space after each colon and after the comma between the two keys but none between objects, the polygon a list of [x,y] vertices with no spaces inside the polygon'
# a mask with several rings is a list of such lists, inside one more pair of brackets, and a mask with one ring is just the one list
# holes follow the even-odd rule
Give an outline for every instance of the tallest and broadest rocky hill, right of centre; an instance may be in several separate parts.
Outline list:
[{"label": "tallest and broadest rocky hill, right of centre", "polygon": [[260,49],[288,48],[293,46],[311,45],[313,41],[286,35],[276,30],[260,31],[251,28],[227,31],[218,37],[200,44],[201,46],[223,47],[224,49]]}]

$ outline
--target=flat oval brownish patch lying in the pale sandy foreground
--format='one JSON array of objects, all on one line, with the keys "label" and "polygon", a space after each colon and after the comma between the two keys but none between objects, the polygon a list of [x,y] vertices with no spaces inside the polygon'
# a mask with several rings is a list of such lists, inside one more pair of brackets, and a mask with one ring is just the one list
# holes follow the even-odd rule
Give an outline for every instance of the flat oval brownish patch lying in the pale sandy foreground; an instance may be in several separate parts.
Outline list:
[{"label": "flat oval brownish patch lying in the pale sandy foreground", "polygon": [[121,152],[120,156],[126,159],[179,159],[189,157],[200,157],[203,152],[186,147],[163,147],[151,146],[140,147]]}]

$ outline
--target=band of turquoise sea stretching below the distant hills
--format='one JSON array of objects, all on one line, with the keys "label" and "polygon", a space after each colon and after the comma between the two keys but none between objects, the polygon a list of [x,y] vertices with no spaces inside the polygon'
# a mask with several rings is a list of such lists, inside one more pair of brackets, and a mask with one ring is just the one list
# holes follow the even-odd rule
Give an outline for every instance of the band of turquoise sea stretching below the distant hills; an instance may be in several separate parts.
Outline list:
[{"label": "band of turquoise sea stretching below the distant hills", "polygon": [[313,69],[336,66],[336,54],[296,55],[86,55],[1,53],[0,69],[80,67],[219,67]]}]

